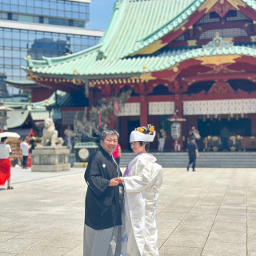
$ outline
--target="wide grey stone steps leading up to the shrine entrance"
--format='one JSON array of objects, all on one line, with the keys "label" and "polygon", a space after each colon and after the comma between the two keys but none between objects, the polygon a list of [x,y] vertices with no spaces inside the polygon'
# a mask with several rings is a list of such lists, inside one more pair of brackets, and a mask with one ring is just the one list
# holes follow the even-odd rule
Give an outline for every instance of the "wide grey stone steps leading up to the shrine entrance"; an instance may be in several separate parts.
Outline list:
[{"label": "wide grey stone steps leading up to the shrine entrance", "polygon": [[[162,167],[185,168],[188,163],[186,152],[150,152],[157,159]],[[122,152],[120,167],[126,167],[127,164],[136,155],[132,152]],[[255,168],[256,170],[256,152],[199,152],[197,159],[199,168]]]}]

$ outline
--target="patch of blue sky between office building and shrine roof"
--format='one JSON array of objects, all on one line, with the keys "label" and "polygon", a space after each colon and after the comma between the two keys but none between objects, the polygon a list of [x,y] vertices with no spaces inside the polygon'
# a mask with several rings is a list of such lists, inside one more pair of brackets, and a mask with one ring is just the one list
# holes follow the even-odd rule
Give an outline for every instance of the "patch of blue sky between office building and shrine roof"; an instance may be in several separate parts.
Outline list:
[{"label": "patch of blue sky between office building and shrine roof", "polygon": [[116,0],[91,0],[90,22],[86,24],[86,28],[106,30],[115,1]]}]

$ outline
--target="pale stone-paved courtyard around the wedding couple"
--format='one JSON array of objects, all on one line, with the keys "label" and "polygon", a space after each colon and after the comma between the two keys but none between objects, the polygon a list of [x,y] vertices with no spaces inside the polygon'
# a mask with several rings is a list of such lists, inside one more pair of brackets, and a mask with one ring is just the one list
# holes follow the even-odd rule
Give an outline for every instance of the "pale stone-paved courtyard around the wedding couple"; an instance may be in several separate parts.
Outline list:
[{"label": "pale stone-paved courtyard around the wedding couple", "polygon": [[[0,256],[82,256],[83,174],[12,168],[14,190],[0,186]],[[166,168],[157,224],[161,256],[256,256],[256,169]]]}]

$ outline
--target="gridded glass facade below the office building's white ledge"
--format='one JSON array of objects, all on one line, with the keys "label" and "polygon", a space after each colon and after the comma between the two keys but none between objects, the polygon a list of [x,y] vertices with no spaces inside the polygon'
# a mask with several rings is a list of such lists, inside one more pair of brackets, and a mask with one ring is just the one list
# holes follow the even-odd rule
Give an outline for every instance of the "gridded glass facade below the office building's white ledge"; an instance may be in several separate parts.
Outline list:
[{"label": "gridded glass facade below the office building's white ledge", "polygon": [[3,57],[0,58],[0,73],[7,74],[11,80],[25,80],[26,72],[20,70],[21,65],[26,66],[24,57],[30,55],[38,60],[42,56],[58,57],[65,54],[66,46],[72,52],[78,52],[94,46],[99,39],[93,36],[0,28],[0,54]]}]

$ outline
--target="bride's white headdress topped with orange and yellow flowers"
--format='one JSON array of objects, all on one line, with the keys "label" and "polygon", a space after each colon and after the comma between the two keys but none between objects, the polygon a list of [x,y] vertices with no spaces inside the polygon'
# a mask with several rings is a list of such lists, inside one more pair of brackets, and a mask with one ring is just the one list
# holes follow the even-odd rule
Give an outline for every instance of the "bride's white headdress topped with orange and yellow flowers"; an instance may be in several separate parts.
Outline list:
[{"label": "bride's white headdress topped with orange and yellow flowers", "polygon": [[155,136],[154,126],[135,128],[130,134],[130,142],[153,142]]}]

